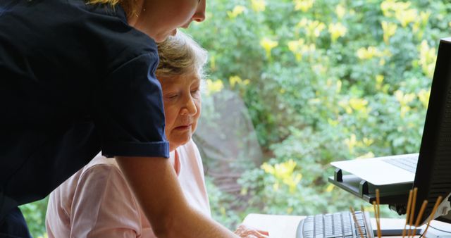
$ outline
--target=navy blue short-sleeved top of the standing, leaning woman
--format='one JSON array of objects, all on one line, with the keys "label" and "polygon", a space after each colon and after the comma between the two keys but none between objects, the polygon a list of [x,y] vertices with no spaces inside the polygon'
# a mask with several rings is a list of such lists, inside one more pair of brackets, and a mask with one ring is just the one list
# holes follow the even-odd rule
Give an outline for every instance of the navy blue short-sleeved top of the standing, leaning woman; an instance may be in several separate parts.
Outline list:
[{"label": "navy blue short-sleeved top of the standing, leaning woman", "polygon": [[0,1],[0,219],[106,156],[168,157],[153,39],[120,6]]}]

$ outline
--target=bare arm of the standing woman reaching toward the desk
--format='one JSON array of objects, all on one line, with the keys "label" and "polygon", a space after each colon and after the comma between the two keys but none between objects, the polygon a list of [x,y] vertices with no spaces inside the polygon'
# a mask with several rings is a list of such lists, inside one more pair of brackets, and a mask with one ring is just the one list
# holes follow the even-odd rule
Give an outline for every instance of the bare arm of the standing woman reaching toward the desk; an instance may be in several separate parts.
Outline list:
[{"label": "bare arm of the standing woman reaching toward the desk", "polygon": [[157,237],[237,237],[191,208],[166,158],[116,157]]}]

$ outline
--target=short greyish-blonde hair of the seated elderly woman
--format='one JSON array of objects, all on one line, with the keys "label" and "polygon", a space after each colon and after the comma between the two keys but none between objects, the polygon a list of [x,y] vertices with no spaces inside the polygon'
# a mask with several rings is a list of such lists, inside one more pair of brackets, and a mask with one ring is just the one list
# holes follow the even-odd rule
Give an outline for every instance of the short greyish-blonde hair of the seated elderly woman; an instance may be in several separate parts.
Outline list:
[{"label": "short greyish-blonde hair of the seated elderly woman", "polygon": [[199,44],[183,32],[169,36],[158,44],[160,63],[156,68],[157,76],[183,75],[197,73],[204,78],[204,65],[208,54]]}]

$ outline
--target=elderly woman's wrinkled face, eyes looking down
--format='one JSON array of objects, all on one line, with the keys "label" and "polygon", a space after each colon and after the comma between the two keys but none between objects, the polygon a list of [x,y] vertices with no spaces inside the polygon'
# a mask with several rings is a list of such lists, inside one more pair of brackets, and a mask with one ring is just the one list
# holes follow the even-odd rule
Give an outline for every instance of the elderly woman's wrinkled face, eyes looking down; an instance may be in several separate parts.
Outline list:
[{"label": "elderly woman's wrinkled face, eyes looking down", "polygon": [[197,73],[158,78],[163,89],[166,137],[173,151],[189,142],[196,130],[202,108],[200,78]]}]

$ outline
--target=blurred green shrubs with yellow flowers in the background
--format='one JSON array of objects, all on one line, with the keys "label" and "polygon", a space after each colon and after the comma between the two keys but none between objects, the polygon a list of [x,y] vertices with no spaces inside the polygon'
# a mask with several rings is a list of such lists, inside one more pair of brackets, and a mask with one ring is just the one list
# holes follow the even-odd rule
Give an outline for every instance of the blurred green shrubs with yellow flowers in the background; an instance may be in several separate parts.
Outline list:
[{"label": "blurred green shrubs with yellow flowers in the background", "polygon": [[[207,0],[187,33],[209,51],[199,131],[214,218],[313,215],[369,203],[331,161],[416,153],[446,0]],[[45,236],[47,200],[21,206]],[[384,216],[397,216],[385,208]]]}]

